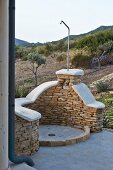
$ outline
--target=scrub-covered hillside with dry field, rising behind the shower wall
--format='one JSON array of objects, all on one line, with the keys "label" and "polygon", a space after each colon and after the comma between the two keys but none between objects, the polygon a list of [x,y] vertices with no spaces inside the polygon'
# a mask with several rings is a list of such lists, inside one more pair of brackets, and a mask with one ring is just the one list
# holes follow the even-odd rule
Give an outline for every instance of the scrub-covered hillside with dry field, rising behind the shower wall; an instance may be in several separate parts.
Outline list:
[{"label": "scrub-covered hillside with dry field, rising behind the shower wall", "polygon": [[[113,65],[109,66],[109,64],[113,64],[113,27],[101,26],[84,35],[85,36],[79,37],[77,40],[70,42],[70,61],[72,68],[85,69],[86,76],[84,76],[85,79],[83,78],[83,81],[92,83],[93,81],[98,80],[98,78],[101,78],[101,76],[107,75],[113,71]],[[38,68],[39,84],[45,81],[54,80],[56,78],[55,71],[66,68],[67,43],[58,41],[55,43],[47,43],[42,46],[39,46],[38,44],[34,44],[33,46],[30,45],[16,47],[17,84],[27,83],[31,86],[33,85],[33,75],[29,69],[30,62],[27,61],[29,53],[39,53],[46,56],[46,64],[41,65]],[[106,65],[101,67],[100,71],[97,71],[97,68],[95,69],[95,67],[91,67],[91,60],[96,55],[101,56],[103,51],[106,51],[106,55],[109,54],[109,59],[112,59],[112,62],[107,61],[107,63],[105,63]]]}]

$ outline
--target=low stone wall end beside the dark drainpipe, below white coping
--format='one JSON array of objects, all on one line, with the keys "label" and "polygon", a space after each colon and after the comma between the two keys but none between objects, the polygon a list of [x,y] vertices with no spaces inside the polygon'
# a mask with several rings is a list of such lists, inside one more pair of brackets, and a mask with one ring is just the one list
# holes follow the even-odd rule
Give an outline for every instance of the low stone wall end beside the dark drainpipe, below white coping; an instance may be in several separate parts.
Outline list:
[{"label": "low stone wall end beside the dark drainpipe, below white coping", "polygon": [[39,120],[29,122],[15,116],[15,151],[31,155],[39,149]]}]

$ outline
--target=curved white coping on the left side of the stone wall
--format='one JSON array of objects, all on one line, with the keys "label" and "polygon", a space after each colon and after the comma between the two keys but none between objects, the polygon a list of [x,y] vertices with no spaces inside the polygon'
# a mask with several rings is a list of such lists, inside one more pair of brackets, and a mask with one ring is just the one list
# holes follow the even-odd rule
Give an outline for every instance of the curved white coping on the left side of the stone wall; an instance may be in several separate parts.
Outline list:
[{"label": "curved white coping on the left side of the stone wall", "polygon": [[35,100],[50,87],[56,86],[58,81],[50,81],[43,83],[32,90],[25,98],[15,99],[15,114],[27,121],[35,121],[41,118],[41,114],[35,110],[23,107],[25,104],[35,102]]}]

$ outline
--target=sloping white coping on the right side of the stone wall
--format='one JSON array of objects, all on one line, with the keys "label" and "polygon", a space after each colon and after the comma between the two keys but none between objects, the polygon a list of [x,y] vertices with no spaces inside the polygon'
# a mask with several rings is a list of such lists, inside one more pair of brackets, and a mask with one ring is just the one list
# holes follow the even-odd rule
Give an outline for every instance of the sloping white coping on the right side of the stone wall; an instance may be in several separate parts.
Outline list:
[{"label": "sloping white coping on the right side of the stone wall", "polygon": [[96,109],[103,109],[105,105],[101,102],[95,100],[89,88],[84,83],[79,83],[72,86],[74,91],[83,100],[84,104],[89,107],[94,107]]}]

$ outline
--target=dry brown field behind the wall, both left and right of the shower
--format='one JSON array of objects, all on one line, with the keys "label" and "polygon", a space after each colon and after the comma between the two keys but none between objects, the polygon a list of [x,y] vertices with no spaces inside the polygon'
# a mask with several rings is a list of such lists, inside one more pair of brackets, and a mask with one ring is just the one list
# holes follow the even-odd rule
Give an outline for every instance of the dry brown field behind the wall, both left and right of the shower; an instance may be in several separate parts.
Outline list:
[{"label": "dry brown field behind the wall, both left and right of the shower", "polygon": [[[16,84],[33,85],[33,75],[30,71],[29,61],[16,61]],[[66,68],[66,61],[57,62],[54,57],[49,56],[45,65],[41,65],[38,69],[38,84],[46,81],[56,80],[55,72],[59,69]],[[101,70],[88,69],[84,70],[85,75],[82,77],[82,82],[90,84],[101,79],[113,72],[113,65],[102,67]]]}]

